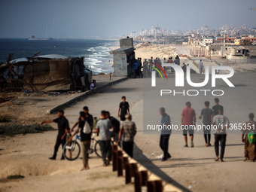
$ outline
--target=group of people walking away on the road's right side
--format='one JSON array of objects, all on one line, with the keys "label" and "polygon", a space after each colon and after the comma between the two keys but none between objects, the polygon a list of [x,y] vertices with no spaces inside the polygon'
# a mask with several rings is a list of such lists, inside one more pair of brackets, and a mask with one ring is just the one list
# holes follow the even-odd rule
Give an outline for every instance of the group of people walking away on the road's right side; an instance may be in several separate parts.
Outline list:
[{"label": "group of people walking away on the road's right side", "polygon": [[[230,121],[226,116],[224,116],[224,108],[222,105],[219,105],[219,99],[215,98],[215,105],[209,108],[210,102],[204,102],[205,108],[202,109],[199,118],[203,118],[203,134],[206,142],[206,147],[211,146],[211,130],[212,126],[217,127],[215,130],[215,161],[220,160],[223,162],[224,160],[224,151],[226,146],[227,132],[229,129]],[[161,124],[162,125],[171,125],[171,118],[165,112],[165,108],[160,108],[160,114],[162,115]],[[245,160],[256,160],[256,135],[254,127],[256,122],[254,121],[254,114],[250,113],[248,115],[249,120],[246,123],[243,123],[242,127],[242,142],[245,143]],[[191,108],[191,103],[186,102],[186,108],[184,108],[181,112],[181,125],[187,127],[188,129],[184,129],[183,136],[185,145],[187,148],[187,133],[190,136],[190,146],[194,148],[194,126],[197,123],[196,112],[193,108]],[[161,130],[160,136],[160,148],[163,150],[163,161],[171,158],[171,155],[168,152],[169,146],[169,136],[171,135],[172,130]],[[219,153],[219,145],[221,145],[221,153]]]}]

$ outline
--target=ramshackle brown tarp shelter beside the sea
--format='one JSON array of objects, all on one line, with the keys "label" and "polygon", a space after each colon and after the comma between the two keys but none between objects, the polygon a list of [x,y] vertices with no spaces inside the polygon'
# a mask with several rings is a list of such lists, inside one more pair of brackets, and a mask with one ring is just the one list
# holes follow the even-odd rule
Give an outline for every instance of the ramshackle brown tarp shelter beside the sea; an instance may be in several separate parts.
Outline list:
[{"label": "ramshackle brown tarp shelter beside the sea", "polygon": [[[0,69],[14,70],[17,66],[23,68],[23,73],[12,79],[20,80],[23,83],[23,90],[29,91],[76,90],[78,85],[81,90],[86,90],[92,77],[90,70],[84,69],[84,57],[35,56],[30,59],[15,59],[2,64]],[[78,70],[74,72],[75,66],[78,66]]]}]

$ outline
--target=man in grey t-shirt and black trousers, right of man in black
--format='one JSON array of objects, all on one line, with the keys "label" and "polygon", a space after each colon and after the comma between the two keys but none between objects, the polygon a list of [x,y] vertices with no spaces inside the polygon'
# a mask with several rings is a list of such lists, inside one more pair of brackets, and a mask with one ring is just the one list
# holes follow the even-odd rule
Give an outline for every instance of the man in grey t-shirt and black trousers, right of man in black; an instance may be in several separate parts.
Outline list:
[{"label": "man in grey t-shirt and black trousers, right of man in black", "polygon": [[219,142],[221,142],[221,162],[224,162],[224,152],[226,147],[227,133],[226,130],[230,126],[230,121],[223,115],[223,109],[218,109],[218,114],[213,117],[212,124],[216,126],[215,129],[215,161],[219,160]]}]

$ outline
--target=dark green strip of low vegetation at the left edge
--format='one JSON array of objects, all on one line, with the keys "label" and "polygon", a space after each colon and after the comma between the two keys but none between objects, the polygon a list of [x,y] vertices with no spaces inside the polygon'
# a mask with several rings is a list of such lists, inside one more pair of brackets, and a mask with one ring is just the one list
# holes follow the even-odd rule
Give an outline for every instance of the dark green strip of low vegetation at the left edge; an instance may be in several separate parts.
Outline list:
[{"label": "dark green strip of low vegetation at the left edge", "polygon": [[28,133],[42,133],[44,131],[53,131],[50,125],[3,125],[0,126],[0,135],[2,136],[15,136],[15,135],[26,135]]}]

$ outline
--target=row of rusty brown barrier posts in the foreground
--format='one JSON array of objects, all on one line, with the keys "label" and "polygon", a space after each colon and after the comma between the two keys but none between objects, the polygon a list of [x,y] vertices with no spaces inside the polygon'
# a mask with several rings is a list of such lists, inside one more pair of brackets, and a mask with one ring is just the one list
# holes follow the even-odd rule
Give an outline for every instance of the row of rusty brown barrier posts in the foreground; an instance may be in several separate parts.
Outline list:
[{"label": "row of rusty brown barrier posts in the foreground", "polygon": [[133,183],[135,192],[142,192],[142,190],[148,192],[182,191],[149,172],[144,166],[129,157],[116,144],[112,146],[112,165],[113,172],[117,171],[117,177],[123,176],[123,170],[125,170],[125,184]]}]

